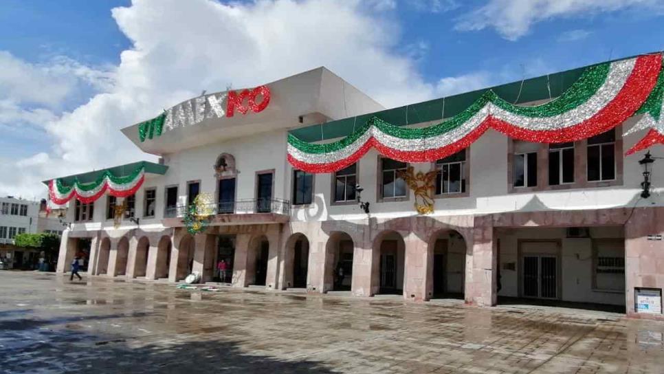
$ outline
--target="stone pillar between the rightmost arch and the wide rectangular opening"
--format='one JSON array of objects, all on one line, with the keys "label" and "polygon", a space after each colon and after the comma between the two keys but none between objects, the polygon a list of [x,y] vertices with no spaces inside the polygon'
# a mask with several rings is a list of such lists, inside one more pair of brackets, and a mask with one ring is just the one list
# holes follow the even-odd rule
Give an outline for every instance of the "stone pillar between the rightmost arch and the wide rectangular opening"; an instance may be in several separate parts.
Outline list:
[{"label": "stone pillar between the rightmost arch and the wide rectangular opening", "polygon": [[465,302],[492,307],[498,300],[498,248],[491,216],[475,217],[472,243],[468,240],[466,245],[472,245],[472,259],[466,263]]}]

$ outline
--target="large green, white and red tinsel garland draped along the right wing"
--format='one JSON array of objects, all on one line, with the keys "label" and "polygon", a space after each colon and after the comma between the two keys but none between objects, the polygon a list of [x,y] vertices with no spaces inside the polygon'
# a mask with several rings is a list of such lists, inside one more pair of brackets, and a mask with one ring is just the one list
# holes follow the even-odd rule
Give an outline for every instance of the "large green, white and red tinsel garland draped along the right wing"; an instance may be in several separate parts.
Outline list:
[{"label": "large green, white and red tinsel garland draped along the right wing", "polygon": [[[661,71],[662,54],[641,55],[588,67],[560,97],[534,107],[511,104],[489,90],[461,113],[422,129],[374,117],[328,144],[311,144],[289,134],[288,160],[300,170],[331,173],[376,148],[399,161],[431,162],[466,148],[490,128],[528,142],[582,140],[613,129],[634,113],[650,115],[650,103],[656,102],[653,96],[661,88]],[[659,115],[643,126],[655,124],[661,124]]]}]

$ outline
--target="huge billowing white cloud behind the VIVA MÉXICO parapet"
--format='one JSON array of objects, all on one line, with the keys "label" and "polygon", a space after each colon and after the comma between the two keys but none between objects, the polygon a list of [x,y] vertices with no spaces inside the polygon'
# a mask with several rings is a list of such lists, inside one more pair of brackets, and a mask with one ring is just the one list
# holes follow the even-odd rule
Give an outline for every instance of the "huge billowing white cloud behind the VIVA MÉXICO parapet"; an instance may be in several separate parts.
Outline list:
[{"label": "huge billowing white cloud behind the VIVA M\u00c9XICO parapet", "polygon": [[[382,14],[360,0],[142,0],[115,8],[113,18],[133,43],[117,67],[94,69],[67,58],[49,67],[16,65],[24,76],[32,74],[30,68],[37,73],[29,85],[8,80],[10,96],[19,98],[14,104],[57,106],[76,91],[70,80],[100,92],[57,118],[32,113],[33,122],[43,120],[39,115],[48,119],[45,129],[54,144],[19,162],[0,160],[0,195],[43,195],[41,180],[151,159],[118,130],[228,83],[258,85],[325,65],[387,107],[434,97],[436,85],[423,80],[417,63],[392,52],[399,30]],[[64,76],[64,87],[50,85],[49,74]]]}]

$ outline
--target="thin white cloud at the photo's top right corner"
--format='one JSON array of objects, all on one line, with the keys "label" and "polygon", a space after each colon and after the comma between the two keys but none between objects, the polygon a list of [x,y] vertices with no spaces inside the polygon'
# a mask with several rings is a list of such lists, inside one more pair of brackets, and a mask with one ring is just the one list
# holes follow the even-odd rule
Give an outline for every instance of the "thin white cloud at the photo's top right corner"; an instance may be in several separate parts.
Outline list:
[{"label": "thin white cloud at the photo's top right corner", "polygon": [[488,0],[464,14],[457,30],[494,28],[505,39],[516,40],[538,22],[556,17],[584,17],[599,12],[644,8],[664,12],[661,0]]}]

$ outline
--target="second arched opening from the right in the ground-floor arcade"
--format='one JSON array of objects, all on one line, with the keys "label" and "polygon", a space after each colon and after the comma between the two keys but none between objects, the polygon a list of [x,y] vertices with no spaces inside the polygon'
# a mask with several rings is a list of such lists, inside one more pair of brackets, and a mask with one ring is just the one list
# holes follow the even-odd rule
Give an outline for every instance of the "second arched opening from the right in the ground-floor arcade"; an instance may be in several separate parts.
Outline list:
[{"label": "second arched opening from the right in the ground-floor arcade", "polygon": [[403,294],[406,243],[398,232],[386,231],[377,236],[373,245],[372,278],[377,294]]}]

